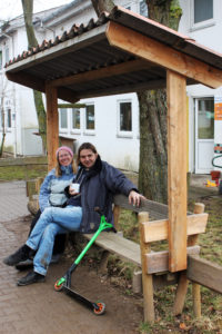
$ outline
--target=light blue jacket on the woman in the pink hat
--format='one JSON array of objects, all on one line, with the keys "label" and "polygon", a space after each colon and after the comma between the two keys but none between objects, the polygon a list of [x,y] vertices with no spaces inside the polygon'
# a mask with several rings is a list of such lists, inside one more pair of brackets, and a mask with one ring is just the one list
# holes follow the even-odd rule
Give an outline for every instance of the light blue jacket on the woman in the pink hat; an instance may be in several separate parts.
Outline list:
[{"label": "light blue jacket on the woman in the pink hat", "polygon": [[67,202],[64,188],[73,179],[72,166],[61,166],[62,175],[56,176],[56,169],[46,176],[39,193],[39,206],[41,213],[49,206],[62,206]]}]

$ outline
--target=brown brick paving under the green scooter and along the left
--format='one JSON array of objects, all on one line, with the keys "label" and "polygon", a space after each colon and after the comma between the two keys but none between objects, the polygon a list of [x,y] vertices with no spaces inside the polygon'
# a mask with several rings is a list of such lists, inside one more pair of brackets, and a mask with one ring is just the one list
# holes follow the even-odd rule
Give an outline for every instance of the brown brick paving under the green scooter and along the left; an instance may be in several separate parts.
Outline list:
[{"label": "brown brick paving under the green scooter and along the left", "polygon": [[80,267],[74,279],[87,296],[100,299],[101,295],[107,304],[103,316],[93,315],[77,301],[53,289],[54,282],[69,267],[69,259],[63,258],[60,264],[51,265],[46,283],[17,286],[17,281],[26,272],[4,265],[2,259],[26,240],[30,224],[28,214],[26,184],[0,183],[0,333],[138,333],[135,328],[142,321],[141,305],[121,296],[89,268]]}]

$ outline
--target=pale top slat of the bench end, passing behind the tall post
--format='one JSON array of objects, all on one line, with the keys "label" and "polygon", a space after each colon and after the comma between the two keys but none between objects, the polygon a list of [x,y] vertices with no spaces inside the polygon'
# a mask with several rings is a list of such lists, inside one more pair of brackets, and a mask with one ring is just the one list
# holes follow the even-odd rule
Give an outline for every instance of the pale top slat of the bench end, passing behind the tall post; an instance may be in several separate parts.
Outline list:
[{"label": "pale top slat of the bench end, passing behind the tall post", "polygon": [[[188,219],[188,236],[195,235],[205,232],[206,223],[208,223],[208,214],[198,214],[186,216]],[[143,223],[142,234],[144,243],[152,243],[159,240],[167,240],[169,220],[154,220]]]}]

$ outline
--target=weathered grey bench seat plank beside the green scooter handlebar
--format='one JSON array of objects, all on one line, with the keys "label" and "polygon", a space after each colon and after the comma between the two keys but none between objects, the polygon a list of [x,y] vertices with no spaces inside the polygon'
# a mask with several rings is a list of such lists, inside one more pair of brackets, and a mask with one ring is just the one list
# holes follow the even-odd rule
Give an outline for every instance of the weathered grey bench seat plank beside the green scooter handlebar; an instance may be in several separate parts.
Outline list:
[{"label": "weathered grey bench seat plank beside the green scooter handlebar", "polygon": [[[91,239],[92,234],[84,234]],[[121,258],[141,266],[140,245],[135,244],[112,232],[102,232],[94,242],[98,246],[119,255]]]}]

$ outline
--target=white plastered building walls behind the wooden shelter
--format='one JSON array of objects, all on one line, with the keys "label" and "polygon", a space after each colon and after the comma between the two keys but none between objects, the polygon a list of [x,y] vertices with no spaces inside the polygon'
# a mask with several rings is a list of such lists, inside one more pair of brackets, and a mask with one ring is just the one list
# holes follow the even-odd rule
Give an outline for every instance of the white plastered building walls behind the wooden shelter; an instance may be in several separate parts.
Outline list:
[{"label": "white plastered building walls behind the wooden shelter", "polygon": [[[222,52],[220,43],[220,31],[222,29],[222,1],[214,0],[214,18],[202,27],[193,27],[193,0],[181,0],[183,16],[179,31],[194,38],[198,42]],[[61,36],[63,31],[69,31],[75,24],[87,23],[91,18],[97,20],[97,14],[89,6],[91,1],[79,2],[78,8],[72,8],[63,14],[58,14],[50,21],[41,24],[37,29],[39,42],[43,39],[53,39]],[[139,0],[127,1],[117,0],[115,4],[139,12]],[[24,27],[13,33],[13,46],[11,46],[10,59],[27,50],[27,35]],[[8,40],[8,42],[10,42]],[[12,82],[8,84],[8,95],[13,101],[14,114],[13,127],[7,134],[7,145],[14,145],[14,153],[19,155],[41,154],[41,139],[33,135],[38,131],[38,119],[36,115],[32,90]],[[189,170],[195,168],[195,122],[194,122],[194,101],[195,98],[221,96],[221,89],[213,90],[202,85],[190,86],[186,88],[189,97]],[[44,96],[43,96],[44,97]],[[118,100],[129,99],[132,102],[132,134],[130,137],[122,137],[118,132]],[[74,147],[78,148],[83,141],[91,141],[98,147],[102,158],[117,167],[138,170],[139,168],[139,106],[135,94],[109,96],[94,99],[85,99],[80,102],[93,102],[95,112],[95,131],[89,134],[84,130],[84,109],[81,109],[81,129],[73,131],[71,127],[71,110],[69,110],[68,129],[60,129],[60,135],[73,138]],[[105,112],[104,112],[105,111]],[[221,121],[215,121],[215,143],[222,143]],[[1,135],[1,134],[0,134]],[[16,144],[14,144],[16,143]]]}]

